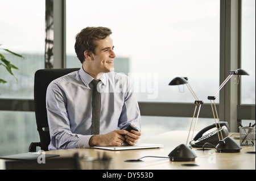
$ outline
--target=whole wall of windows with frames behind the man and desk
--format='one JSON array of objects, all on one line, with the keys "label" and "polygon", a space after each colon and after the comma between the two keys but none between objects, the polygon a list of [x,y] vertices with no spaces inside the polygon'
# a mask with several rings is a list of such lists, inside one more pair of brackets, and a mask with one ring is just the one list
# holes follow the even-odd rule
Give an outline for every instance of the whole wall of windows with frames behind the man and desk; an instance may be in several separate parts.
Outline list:
[{"label": "whole wall of windows with frames behind the man and desk", "polygon": [[[89,8],[84,8],[89,7]],[[216,103],[230,132],[255,123],[255,1],[79,1],[0,2],[0,53],[18,70],[17,80],[0,66],[0,156],[25,153],[39,141],[34,110],[34,74],[39,69],[80,68],[76,33],[87,26],[113,31],[115,71],[133,78],[142,116],[142,137],[188,131],[195,99],[188,77],[204,101],[197,131],[214,123],[207,96],[230,70],[250,75],[232,78]],[[22,55],[17,57],[3,49]]]}]

